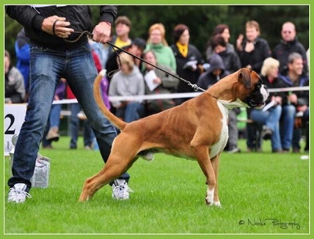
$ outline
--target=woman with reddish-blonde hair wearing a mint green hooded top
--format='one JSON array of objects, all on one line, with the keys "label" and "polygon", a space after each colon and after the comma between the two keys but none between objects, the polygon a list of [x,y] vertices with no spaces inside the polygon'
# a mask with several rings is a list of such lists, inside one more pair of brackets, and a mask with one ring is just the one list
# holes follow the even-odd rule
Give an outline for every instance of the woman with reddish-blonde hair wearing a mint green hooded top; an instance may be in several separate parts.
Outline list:
[{"label": "woman with reddish-blonde hair wearing a mint green hooded top", "polygon": [[161,23],[156,23],[149,27],[149,38],[146,49],[154,51],[160,65],[167,66],[172,71],[177,71],[177,63],[172,49],[165,40],[165,27]]}]

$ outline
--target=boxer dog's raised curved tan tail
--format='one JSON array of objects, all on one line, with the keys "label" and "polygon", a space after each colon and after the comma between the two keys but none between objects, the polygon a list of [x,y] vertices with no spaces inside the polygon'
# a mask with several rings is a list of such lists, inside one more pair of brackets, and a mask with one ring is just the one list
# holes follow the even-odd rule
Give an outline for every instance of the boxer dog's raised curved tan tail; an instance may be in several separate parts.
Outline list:
[{"label": "boxer dog's raised curved tan tail", "polygon": [[107,107],[105,106],[105,103],[103,103],[103,98],[100,92],[100,82],[101,82],[101,79],[104,77],[105,73],[106,73],[105,70],[100,71],[100,73],[95,78],[94,97],[95,97],[98,107],[100,108],[101,112],[105,115],[105,117],[107,117],[107,119],[109,119],[109,121],[112,122],[112,124],[117,126],[118,129],[122,130],[124,129],[127,123],[119,119],[114,114],[112,114],[110,110],[108,110]]}]

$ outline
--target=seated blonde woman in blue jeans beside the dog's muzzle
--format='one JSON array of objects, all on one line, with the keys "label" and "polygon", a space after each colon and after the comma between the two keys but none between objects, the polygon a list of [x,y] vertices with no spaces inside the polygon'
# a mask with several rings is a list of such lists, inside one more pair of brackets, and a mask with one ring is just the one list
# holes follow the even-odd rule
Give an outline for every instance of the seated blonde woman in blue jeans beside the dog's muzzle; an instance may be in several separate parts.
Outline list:
[{"label": "seated blonde woman in blue jeans beside the dog's muzzle", "polygon": [[[262,80],[269,89],[281,88],[283,83],[278,79],[279,61],[268,57],[264,59],[261,75]],[[281,119],[281,103],[283,99],[283,92],[271,92],[266,101],[266,110],[252,109],[250,117],[254,122],[263,124],[262,138],[264,140],[271,140],[272,152],[284,152],[281,146],[281,136],[279,131],[279,120]],[[248,139],[249,141],[250,139]]]}]

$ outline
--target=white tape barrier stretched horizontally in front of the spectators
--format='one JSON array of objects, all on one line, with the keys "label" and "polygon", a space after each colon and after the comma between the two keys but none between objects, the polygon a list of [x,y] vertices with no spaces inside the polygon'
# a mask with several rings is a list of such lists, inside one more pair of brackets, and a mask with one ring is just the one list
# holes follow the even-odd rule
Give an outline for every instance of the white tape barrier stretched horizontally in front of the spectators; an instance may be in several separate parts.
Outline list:
[{"label": "white tape barrier stretched horizontally in front of the spectators", "polygon": [[[286,87],[268,89],[269,92],[297,92],[301,90],[310,90],[310,87]],[[173,93],[173,94],[145,94],[141,96],[108,96],[109,101],[145,101],[154,99],[179,99],[193,98],[204,92],[193,93]],[[77,103],[77,99],[63,99],[61,101],[53,101],[54,104]]]}]

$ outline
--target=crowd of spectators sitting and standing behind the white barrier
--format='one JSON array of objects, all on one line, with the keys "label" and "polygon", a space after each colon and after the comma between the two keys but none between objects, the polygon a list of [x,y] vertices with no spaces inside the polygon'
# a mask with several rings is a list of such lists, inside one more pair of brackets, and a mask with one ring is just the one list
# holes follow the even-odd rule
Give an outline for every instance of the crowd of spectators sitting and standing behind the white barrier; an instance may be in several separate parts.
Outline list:
[{"label": "crowd of spectators sitting and standing behind the white barrier", "polygon": [[[142,94],[170,94],[194,92],[194,89],[179,80],[184,78],[202,89],[208,89],[221,78],[234,73],[239,68],[251,68],[260,74],[269,89],[285,87],[302,87],[309,85],[308,51],[297,40],[297,30],[293,22],[284,22],[281,39],[271,50],[267,39],[261,37],[261,29],[255,20],[246,22],[245,34],[240,34],[236,45],[230,43],[230,29],[226,24],[214,27],[207,42],[207,50],[201,52],[190,43],[193,31],[186,24],[177,24],[172,32],[173,41],[168,45],[166,32],[162,23],[152,24],[147,31],[147,40],[130,38],[131,22],[127,16],[119,16],[114,22],[114,31],[110,41],[131,54],[142,57],[154,66],[165,69],[167,74],[151,64],[146,64],[135,57],[112,49],[108,44],[90,41],[98,72],[107,70],[103,78],[103,99],[112,113],[126,122],[140,119],[146,115],[177,106],[188,98],[156,99],[147,101],[108,101],[109,96],[137,96]],[[280,31],[280,29],[278,29]],[[193,38],[192,38],[193,39]],[[6,103],[26,103],[29,94],[29,41],[21,29],[17,34],[15,54],[17,67],[10,64],[10,53],[5,52],[5,97]],[[13,52],[11,52],[12,54]],[[177,75],[174,78],[172,75]],[[66,82],[66,80],[65,80]],[[64,88],[64,89],[63,89]],[[70,98],[68,86],[62,87],[61,98]],[[58,93],[59,94],[59,93]],[[56,93],[56,96],[58,96]],[[267,110],[248,109],[247,150],[260,151],[261,144],[253,140],[259,130],[263,140],[271,140],[274,153],[300,152],[300,140],[306,135],[305,151],[308,151],[308,90],[271,92]],[[51,141],[59,138],[59,121],[61,108],[52,109],[52,119],[48,122],[47,133],[43,138],[43,147],[51,147]],[[71,142],[70,148],[77,147],[77,114],[80,113],[78,103],[71,107]],[[53,111],[57,113],[53,113]],[[230,111],[230,139],[227,150],[230,153],[240,152],[238,147],[239,132],[237,115],[239,108]],[[88,122],[86,122],[88,128]],[[255,126],[254,126],[255,125]],[[87,139],[84,145],[93,147],[94,137],[91,129],[86,129]],[[50,141],[47,143],[47,140]],[[87,143],[88,141],[88,143]],[[257,145],[253,145],[253,142]]]}]

